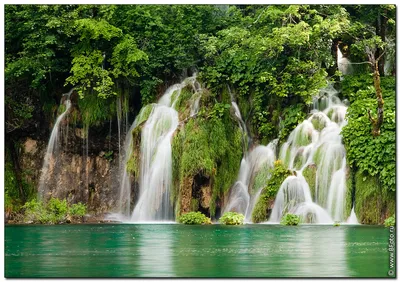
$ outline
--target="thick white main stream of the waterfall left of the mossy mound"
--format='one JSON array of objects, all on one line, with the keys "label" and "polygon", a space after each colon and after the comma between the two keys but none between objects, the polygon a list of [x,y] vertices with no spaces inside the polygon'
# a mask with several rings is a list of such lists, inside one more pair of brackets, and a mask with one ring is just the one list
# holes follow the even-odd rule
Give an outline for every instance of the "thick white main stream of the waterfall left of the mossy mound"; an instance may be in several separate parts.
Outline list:
[{"label": "thick white main stream of the waterfall left of the mossy mound", "polygon": [[170,190],[172,186],[171,139],[179,125],[175,104],[181,91],[196,75],[167,89],[150,113],[141,135],[139,200],[132,221],[168,221],[174,219]]}]

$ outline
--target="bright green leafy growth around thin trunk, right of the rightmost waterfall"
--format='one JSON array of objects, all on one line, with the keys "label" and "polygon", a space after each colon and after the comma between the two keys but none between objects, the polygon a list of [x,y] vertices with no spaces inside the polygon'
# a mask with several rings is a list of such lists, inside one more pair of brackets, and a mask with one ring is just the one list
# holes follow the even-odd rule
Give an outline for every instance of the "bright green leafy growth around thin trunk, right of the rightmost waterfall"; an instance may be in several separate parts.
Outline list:
[{"label": "bright green leafy growth around thin trunk, right of the rightmost waterfall", "polygon": [[[366,81],[363,86],[360,84]],[[387,190],[396,189],[396,120],[394,78],[382,79],[385,98],[384,122],[381,134],[371,134],[368,110],[376,105],[375,89],[369,76],[354,76],[345,79],[343,92],[350,99],[347,113],[348,124],[342,135],[346,146],[347,159],[353,169],[360,169],[371,176],[379,176]]]}]

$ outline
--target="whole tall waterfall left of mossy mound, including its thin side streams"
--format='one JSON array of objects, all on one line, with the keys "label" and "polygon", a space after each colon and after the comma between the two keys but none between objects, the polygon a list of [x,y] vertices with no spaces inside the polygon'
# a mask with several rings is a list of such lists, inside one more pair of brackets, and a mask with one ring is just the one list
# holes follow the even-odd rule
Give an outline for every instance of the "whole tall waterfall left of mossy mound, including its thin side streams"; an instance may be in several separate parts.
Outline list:
[{"label": "whole tall waterfall left of mossy mound, including its thin side streams", "polygon": [[[179,125],[178,112],[175,110],[181,90],[187,85],[194,89],[191,98],[191,114],[199,110],[200,84],[196,75],[186,78],[182,83],[169,87],[157,104],[142,108],[130,127],[123,150],[124,163],[121,171],[119,216],[120,220],[134,222],[171,221],[174,218],[170,201],[172,185],[172,148],[171,139]],[[150,112],[150,114],[149,114]],[[147,118],[147,120],[146,120]],[[143,124],[143,122],[146,122]],[[140,145],[139,199],[131,213],[131,179],[127,163],[132,154],[132,132],[143,124]]]}]

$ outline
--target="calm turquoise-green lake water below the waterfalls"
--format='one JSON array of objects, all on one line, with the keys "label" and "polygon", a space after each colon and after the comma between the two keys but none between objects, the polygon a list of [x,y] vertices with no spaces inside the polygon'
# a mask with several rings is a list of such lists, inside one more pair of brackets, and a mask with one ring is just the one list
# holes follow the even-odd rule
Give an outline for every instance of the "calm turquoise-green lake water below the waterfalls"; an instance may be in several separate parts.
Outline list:
[{"label": "calm turquoise-green lake water below the waterfalls", "polygon": [[388,228],[5,227],[6,277],[394,277]]}]

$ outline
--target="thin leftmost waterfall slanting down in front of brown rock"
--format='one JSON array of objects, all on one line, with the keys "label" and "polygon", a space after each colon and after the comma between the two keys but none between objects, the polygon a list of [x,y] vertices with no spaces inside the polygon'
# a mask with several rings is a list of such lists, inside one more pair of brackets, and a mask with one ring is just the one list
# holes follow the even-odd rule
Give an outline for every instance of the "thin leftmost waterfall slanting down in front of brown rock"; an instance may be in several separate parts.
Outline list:
[{"label": "thin leftmost waterfall slanting down in front of brown rock", "polygon": [[72,88],[68,93],[62,95],[61,105],[65,105],[65,110],[57,117],[56,122],[53,126],[53,130],[50,134],[49,142],[47,143],[46,154],[44,156],[43,166],[39,179],[38,197],[40,200],[44,200],[48,193],[47,182],[53,175],[53,170],[57,162],[60,125],[61,122],[64,120],[66,114],[68,113],[69,109],[71,108],[70,96],[73,91],[74,88]]}]

